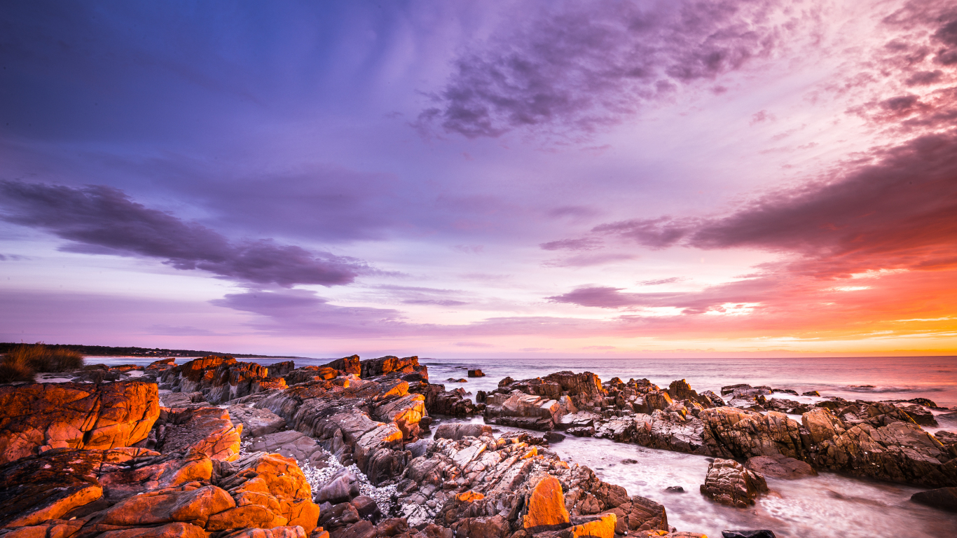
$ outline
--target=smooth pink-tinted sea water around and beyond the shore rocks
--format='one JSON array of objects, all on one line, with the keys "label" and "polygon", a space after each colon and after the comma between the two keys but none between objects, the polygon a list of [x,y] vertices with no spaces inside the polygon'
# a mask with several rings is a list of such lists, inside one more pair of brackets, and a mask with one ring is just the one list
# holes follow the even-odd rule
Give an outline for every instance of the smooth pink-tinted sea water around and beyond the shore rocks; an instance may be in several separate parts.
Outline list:
[{"label": "smooth pink-tinted sea water around and beyond the shore rocks", "polygon": [[[271,364],[281,359],[242,360]],[[296,359],[296,364],[321,365],[329,360]],[[145,364],[151,359],[88,357],[87,362]],[[419,362],[429,367],[433,383],[444,383],[447,389],[461,386],[473,393],[495,389],[506,376],[525,379],[573,370],[592,371],[602,380],[615,376],[626,381],[644,377],[661,387],[675,379],[686,379],[699,392],[719,392],[725,385],[749,383],[797,392],[819,391],[851,400],[924,397],[942,407],[957,406],[957,357],[467,361],[420,358]],[[477,368],[486,377],[468,379],[467,383],[446,381],[465,378],[466,370]],[[472,421],[481,422],[481,417]],[[942,429],[957,432],[957,423],[941,419],[941,427],[928,428],[932,432]],[[939,538],[951,536],[957,530],[957,514],[910,502],[910,496],[922,490],[919,487],[822,473],[800,481],[768,479],[771,493],[761,497],[755,506],[730,508],[711,503],[699,493],[699,484],[704,482],[707,472],[706,458],[594,438],[568,437],[553,448],[564,460],[588,465],[602,480],[624,486],[630,495],[664,504],[669,523],[679,530],[704,532],[711,538],[720,537],[723,529],[730,528],[770,528],[778,536],[794,538]],[[626,459],[637,463],[623,463]],[[664,493],[671,485],[682,486],[685,493]]]}]

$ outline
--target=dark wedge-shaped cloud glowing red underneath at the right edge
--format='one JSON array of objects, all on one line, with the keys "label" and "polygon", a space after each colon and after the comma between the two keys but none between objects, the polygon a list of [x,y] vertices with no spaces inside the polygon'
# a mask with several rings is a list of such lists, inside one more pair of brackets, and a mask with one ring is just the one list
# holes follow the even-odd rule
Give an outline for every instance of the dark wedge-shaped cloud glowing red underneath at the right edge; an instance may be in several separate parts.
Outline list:
[{"label": "dark wedge-shaped cloud glowing red underneath at the right edge", "polygon": [[865,161],[725,217],[635,219],[593,231],[652,248],[796,254],[801,271],[822,278],[957,266],[957,130],[875,150]]}]

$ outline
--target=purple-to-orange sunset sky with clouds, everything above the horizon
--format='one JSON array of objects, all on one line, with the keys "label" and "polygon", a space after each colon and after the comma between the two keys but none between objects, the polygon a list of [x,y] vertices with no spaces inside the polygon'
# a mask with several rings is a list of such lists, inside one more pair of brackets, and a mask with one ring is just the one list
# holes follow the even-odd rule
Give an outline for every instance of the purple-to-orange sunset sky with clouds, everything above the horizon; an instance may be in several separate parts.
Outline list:
[{"label": "purple-to-orange sunset sky with clouds, everything above the horizon", "polygon": [[957,7],[0,12],[0,340],[957,354]]}]

